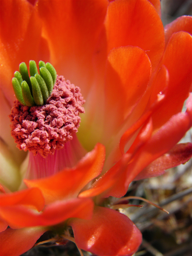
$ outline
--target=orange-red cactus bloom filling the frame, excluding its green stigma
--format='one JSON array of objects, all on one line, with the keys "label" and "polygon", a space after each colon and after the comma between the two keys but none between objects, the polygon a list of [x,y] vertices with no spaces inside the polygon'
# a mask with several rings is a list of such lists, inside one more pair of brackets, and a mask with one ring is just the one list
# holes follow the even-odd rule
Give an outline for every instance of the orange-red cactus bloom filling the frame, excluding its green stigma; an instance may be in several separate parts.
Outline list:
[{"label": "orange-red cactus bloom filling the frame, excluding its green stigma", "polygon": [[[54,230],[56,242],[72,240],[100,256],[131,256],[141,233],[106,206],[105,198],[120,198],[133,180],[161,175],[192,156],[191,143],[177,144],[192,126],[192,17],[164,29],[159,0],[1,0],[0,5],[1,254],[19,256]],[[10,136],[8,116],[16,100],[13,74],[30,60],[50,62],[86,102],[78,136],[76,129],[68,137],[57,128],[60,122],[65,127],[67,118],[74,122],[64,101],[73,102],[75,94],[54,99],[49,94],[36,104],[42,106],[13,108],[11,120],[18,123],[12,133],[18,148],[30,150],[26,157]],[[57,80],[54,90],[59,85]],[[46,119],[52,100],[65,112],[54,109],[58,116],[51,118],[50,111]],[[81,106],[77,118],[80,112]],[[36,118],[29,119],[31,113]],[[36,125],[45,120],[54,122],[58,140],[50,137],[47,123]],[[45,131],[46,142],[39,135]]]}]

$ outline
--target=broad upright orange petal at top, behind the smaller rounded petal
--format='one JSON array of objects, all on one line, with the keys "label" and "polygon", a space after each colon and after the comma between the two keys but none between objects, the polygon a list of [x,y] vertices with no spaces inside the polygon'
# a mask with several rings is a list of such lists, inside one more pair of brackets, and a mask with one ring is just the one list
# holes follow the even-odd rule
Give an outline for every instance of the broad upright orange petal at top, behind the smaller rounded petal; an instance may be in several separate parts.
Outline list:
[{"label": "broad upright orange petal at top, behind the smaller rounded petal", "polygon": [[138,46],[146,51],[154,70],[164,52],[164,28],[150,2],[110,2],[105,26],[108,53],[119,46]]}]

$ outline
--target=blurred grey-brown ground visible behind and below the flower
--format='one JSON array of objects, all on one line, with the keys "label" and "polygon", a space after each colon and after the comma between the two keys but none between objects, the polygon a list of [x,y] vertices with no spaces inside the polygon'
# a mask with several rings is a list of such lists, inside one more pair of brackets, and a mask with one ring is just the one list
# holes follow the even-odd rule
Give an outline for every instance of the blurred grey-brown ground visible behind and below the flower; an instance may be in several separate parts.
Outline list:
[{"label": "blurred grey-brown ground visible behind and below the flower", "polygon": [[[164,26],[179,16],[192,16],[192,0],[161,0]],[[181,141],[192,142],[192,130]],[[143,234],[143,242],[134,256],[192,256],[192,160],[172,168],[157,178],[132,182],[126,196],[146,198],[166,209],[170,214],[141,200],[143,208],[120,209]],[[113,202],[114,198],[110,198]],[[38,240],[51,238],[50,233]],[[84,256],[92,254],[83,251]],[[80,256],[72,242],[52,242],[35,246],[22,256]]]}]

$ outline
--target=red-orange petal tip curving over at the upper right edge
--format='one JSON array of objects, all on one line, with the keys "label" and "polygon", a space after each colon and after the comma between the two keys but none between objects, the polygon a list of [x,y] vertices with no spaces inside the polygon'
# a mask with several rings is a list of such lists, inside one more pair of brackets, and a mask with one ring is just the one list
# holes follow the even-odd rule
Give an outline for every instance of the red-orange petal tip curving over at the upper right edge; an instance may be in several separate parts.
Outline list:
[{"label": "red-orange petal tip curving over at the upper right edge", "polygon": [[165,26],[166,45],[172,34],[179,31],[185,31],[192,35],[192,16],[181,16]]}]

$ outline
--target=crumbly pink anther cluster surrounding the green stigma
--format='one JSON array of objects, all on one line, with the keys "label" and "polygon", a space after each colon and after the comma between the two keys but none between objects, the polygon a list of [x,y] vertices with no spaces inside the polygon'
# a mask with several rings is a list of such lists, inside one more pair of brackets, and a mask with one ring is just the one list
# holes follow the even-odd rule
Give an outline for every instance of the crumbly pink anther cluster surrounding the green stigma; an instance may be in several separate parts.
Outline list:
[{"label": "crumbly pink anther cluster surrounding the green stigma", "polygon": [[78,131],[84,102],[80,88],[65,81],[63,76],[57,76],[46,105],[28,107],[16,100],[10,119],[17,147],[34,155],[39,153],[44,158],[63,148]]}]

